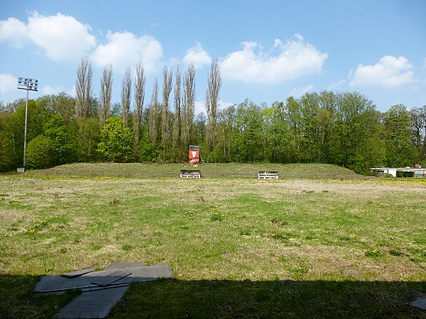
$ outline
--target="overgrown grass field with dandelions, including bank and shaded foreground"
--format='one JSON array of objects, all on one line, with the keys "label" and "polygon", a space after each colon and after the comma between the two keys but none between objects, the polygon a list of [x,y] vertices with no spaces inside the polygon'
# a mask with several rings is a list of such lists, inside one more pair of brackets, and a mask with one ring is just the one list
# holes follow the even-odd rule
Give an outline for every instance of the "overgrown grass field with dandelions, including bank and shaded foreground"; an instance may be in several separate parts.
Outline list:
[{"label": "overgrown grass field with dandelions, including bank and shaded foreground", "polygon": [[[426,181],[326,164],[71,164],[0,175],[0,318],[75,293],[40,276],[167,263],[109,318],[426,318]],[[280,172],[278,181],[256,179]],[[425,295],[426,296],[426,295]]]}]

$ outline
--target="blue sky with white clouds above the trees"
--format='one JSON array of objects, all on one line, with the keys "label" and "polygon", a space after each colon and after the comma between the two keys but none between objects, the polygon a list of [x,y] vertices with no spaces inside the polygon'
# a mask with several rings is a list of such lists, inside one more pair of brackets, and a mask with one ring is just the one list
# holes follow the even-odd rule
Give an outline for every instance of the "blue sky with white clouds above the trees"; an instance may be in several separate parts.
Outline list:
[{"label": "blue sky with white clouds above the trees", "polygon": [[[0,102],[25,98],[18,77],[38,79],[30,98],[75,96],[87,57],[92,93],[113,68],[119,102],[127,67],[146,70],[145,106],[163,68],[196,67],[196,113],[219,62],[221,106],[271,106],[306,92],[357,91],[387,111],[426,105],[424,0],[2,0]],[[161,92],[160,92],[161,99]],[[172,107],[173,103],[170,101]]]}]

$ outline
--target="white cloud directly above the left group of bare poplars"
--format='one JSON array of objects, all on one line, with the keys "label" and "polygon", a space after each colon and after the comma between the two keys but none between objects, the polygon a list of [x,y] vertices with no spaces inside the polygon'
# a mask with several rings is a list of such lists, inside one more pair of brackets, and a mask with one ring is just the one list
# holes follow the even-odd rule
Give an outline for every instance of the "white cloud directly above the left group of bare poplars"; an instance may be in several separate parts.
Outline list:
[{"label": "white cloud directly above the left group of bare poplars", "polygon": [[129,32],[107,34],[108,43],[99,45],[92,53],[94,65],[104,67],[111,64],[114,70],[124,72],[127,67],[136,66],[141,60],[146,72],[155,72],[158,62],[163,57],[163,47],[158,40],[143,35],[137,38]]}]

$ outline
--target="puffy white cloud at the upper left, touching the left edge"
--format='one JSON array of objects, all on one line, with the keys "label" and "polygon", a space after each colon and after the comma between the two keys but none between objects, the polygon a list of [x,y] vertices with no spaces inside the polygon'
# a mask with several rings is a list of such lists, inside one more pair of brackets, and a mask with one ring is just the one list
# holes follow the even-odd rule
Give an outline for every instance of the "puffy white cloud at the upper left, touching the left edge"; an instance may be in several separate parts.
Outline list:
[{"label": "puffy white cloud at the upper left, touching the left edge", "polygon": [[55,61],[78,60],[96,45],[89,26],[72,16],[57,13],[56,16],[42,16],[37,11],[28,17],[28,23],[16,18],[0,21],[0,41],[12,47],[21,48],[34,43],[45,50]]}]

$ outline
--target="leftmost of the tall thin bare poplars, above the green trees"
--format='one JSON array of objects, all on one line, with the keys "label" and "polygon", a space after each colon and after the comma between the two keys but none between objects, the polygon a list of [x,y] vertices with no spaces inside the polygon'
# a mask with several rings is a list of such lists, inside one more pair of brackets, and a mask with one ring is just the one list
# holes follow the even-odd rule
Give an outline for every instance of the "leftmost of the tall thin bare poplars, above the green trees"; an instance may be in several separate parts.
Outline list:
[{"label": "leftmost of the tall thin bare poplars, above the green trees", "polygon": [[77,118],[89,116],[92,99],[93,69],[87,57],[83,57],[77,69],[75,82],[75,113]]}]

